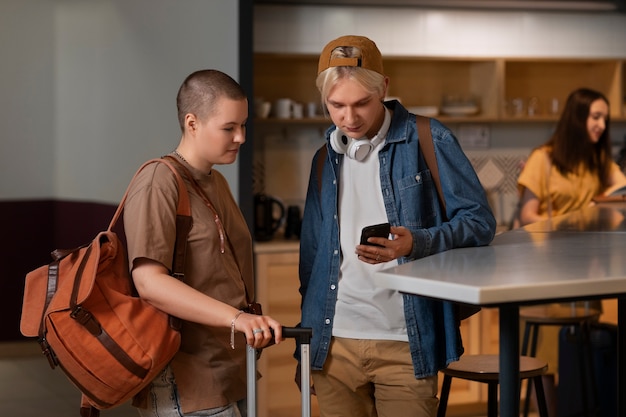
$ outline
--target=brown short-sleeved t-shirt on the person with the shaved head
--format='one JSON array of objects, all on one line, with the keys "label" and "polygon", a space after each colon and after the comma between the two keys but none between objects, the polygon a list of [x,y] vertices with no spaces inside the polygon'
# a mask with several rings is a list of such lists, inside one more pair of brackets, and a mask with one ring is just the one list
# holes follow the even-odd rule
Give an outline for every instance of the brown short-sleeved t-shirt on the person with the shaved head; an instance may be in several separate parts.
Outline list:
[{"label": "brown short-sleeved t-shirt on the person with the shaved head", "polygon": [[[252,239],[228,183],[216,170],[187,168],[217,210],[226,231],[225,253],[212,211],[188,184],[193,226],[188,237],[185,283],[238,309],[246,307],[244,282],[254,298]],[[148,258],[172,268],[176,240],[177,183],[164,164],[146,167],[133,181],[124,209],[128,258]],[[242,280],[243,277],[243,280]],[[172,278],[174,279],[174,278]],[[149,329],[147,329],[149,331]],[[224,406],[246,396],[245,340],[230,329],[183,322],[182,343],[171,366],[183,412]]]}]

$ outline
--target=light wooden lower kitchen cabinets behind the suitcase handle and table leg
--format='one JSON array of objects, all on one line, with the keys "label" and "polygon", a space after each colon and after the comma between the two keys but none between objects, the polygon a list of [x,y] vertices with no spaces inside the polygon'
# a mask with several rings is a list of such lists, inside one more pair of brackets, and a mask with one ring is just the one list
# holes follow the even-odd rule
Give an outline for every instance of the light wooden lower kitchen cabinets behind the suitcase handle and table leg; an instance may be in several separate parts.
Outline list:
[{"label": "light wooden lower kitchen cabinets behind the suitcase handle and table leg", "polygon": [[[257,300],[263,311],[286,326],[300,320],[298,292],[298,242],[263,242],[255,246]],[[498,352],[497,310],[483,309],[464,320],[461,333],[467,354]],[[296,360],[293,340],[265,350],[258,369],[259,417],[287,417],[300,413],[300,392],[294,382]],[[442,382],[439,378],[439,383]],[[485,384],[455,379],[450,393],[450,415],[487,401]],[[312,415],[318,416],[317,398],[311,399]]]}]

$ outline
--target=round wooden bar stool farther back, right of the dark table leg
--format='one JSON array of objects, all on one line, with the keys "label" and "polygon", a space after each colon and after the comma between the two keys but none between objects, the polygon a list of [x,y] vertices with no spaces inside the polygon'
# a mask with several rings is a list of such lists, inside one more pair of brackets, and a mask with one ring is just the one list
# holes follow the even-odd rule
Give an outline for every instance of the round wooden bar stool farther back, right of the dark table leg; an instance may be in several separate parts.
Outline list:
[{"label": "round wooden bar stool farther back, right of the dark table leg", "polygon": [[[597,321],[600,317],[600,308],[591,307],[588,302],[585,303],[567,303],[567,304],[543,304],[539,306],[524,307],[520,309],[520,319],[526,322],[524,326],[524,338],[522,340],[522,355],[532,357],[537,356],[537,339],[539,336],[539,328],[541,326],[572,326],[577,327],[580,331],[576,332],[578,338],[578,369],[581,372],[581,400],[583,410],[587,415],[589,410],[587,396],[587,369],[591,368],[591,357],[585,353],[585,344],[589,340],[588,324]],[[528,381],[526,387],[526,400],[524,401],[524,417],[528,416],[530,406],[529,394],[532,389],[532,380]],[[592,394],[595,397],[595,387],[592,383]]]}]

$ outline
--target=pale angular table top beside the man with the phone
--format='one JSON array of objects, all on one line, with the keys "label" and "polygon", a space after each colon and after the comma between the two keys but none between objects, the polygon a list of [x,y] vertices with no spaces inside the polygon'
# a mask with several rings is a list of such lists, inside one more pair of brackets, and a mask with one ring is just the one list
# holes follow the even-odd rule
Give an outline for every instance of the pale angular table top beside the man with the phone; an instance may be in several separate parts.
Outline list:
[{"label": "pale angular table top beside the man with the phone", "polygon": [[375,279],[381,287],[483,306],[625,294],[623,208],[596,206],[582,217],[505,232],[489,246],[428,256]]}]

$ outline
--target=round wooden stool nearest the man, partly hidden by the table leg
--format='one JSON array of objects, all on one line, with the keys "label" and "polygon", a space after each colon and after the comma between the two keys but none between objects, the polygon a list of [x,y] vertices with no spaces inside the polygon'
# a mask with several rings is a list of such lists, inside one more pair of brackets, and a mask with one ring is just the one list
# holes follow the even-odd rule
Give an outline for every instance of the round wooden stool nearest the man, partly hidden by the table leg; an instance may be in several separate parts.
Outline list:
[{"label": "round wooden stool nearest the man, partly hidden by the table leg", "polygon": [[[487,384],[487,416],[498,416],[498,384],[500,383],[500,357],[498,355],[464,355],[461,356],[459,361],[451,363],[446,369],[442,369],[441,372],[444,374],[444,377],[437,417],[445,417],[446,415],[452,378]],[[541,377],[547,372],[548,364],[546,362],[529,356],[520,357],[520,381],[524,379],[535,381],[540,417],[548,417],[548,407],[541,380]]]}]

